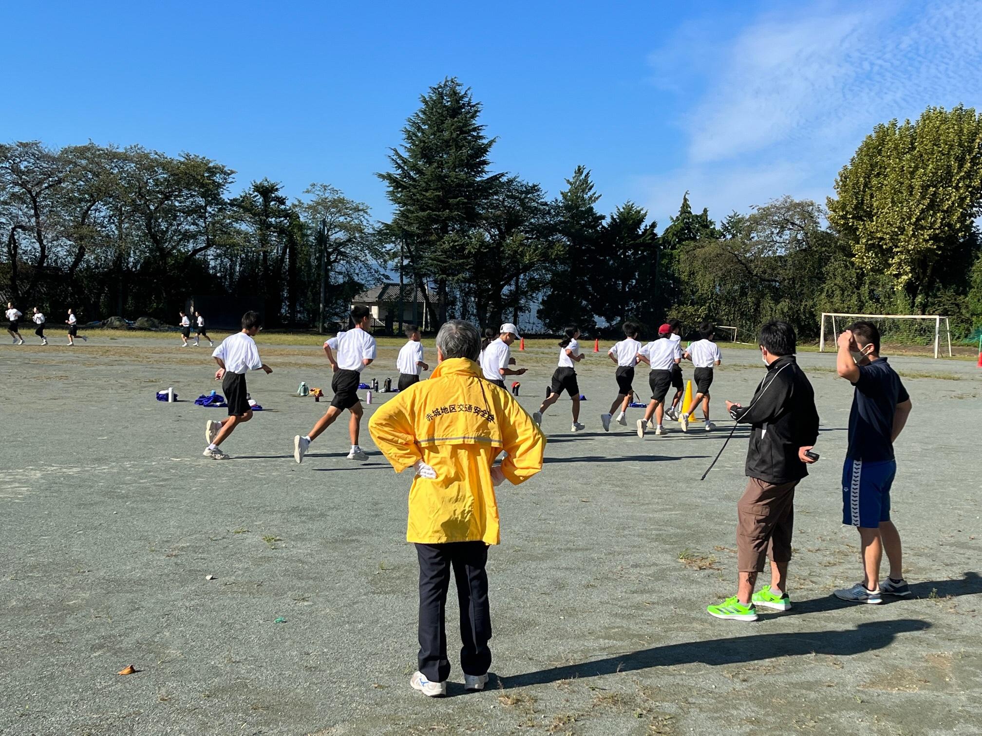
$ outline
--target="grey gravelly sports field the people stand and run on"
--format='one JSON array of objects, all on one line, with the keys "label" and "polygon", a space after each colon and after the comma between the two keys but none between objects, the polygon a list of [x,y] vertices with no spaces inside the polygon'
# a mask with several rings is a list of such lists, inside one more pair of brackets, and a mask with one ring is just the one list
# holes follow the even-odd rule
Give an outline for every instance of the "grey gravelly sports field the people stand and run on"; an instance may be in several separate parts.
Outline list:
[{"label": "grey gravelly sports field the people stand and run on", "polygon": [[[207,347],[99,332],[74,348],[0,345],[0,733],[982,731],[974,363],[891,359],[914,404],[894,487],[914,600],[848,605],[831,592],[861,578],[857,535],[841,523],[851,389],[834,353],[799,356],[821,460],[798,487],[794,607],[747,624],[705,612],[736,591],[746,430],[699,476],[729,434],[723,399],[747,399],[762,377],[759,354],[723,345],[716,432],[667,422],[670,436],[644,441],[632,432],[640,409],[602,431],[614,366],[588,354],[586,431],[570,433],[561,400],[543,422],[543,471],[498,491],[489,689],[464,693],[452,591],[451,697],[429,700],[409,689],[409,477],[364,427],[369,461],[347,460],[342,423],[297,465],[292,439],[327,404],[294,394],[300,381],[329,386],[326,361],[316,338],[257,342],[274,370],[248,378],[265,411],[222,447],[226,462],[201,457],[205,420],[225,410],[192,403],[219,388]],[[396,378],[397,344],[366,378]],[[529,411],[557,353],[548,342],[513,353],[529,367]],[[179,402],[154,400],[169,386]],[[129,664],[135,674],[116,674]]]}]

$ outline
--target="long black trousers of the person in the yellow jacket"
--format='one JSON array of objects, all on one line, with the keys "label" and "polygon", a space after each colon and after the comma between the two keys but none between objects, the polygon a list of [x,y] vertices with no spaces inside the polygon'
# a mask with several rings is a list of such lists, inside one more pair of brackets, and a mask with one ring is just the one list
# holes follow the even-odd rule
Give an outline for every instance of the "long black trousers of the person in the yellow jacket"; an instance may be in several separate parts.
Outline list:
[{"label": "long black trousers of the person in the yellow jacket", "polygon": [[482,675],[491,666],[491,608],[488,605],[488,546],[483,542],[416,545],[419,557],[419,671],[430,682],[450,677],[447,658],[447,590],[454,568],[461,605],[461,668]]}]

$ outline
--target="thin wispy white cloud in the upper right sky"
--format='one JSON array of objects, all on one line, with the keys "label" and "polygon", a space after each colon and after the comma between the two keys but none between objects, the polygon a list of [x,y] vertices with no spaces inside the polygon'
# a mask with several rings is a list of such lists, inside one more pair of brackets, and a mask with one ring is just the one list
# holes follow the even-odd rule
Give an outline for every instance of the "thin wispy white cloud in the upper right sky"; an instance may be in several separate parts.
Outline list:
[{"label": "thin wispy white cloud in the upper right sky", "polygon": [[787,7],[722,37],[686,26],[652,54],[682,105],[682,165],[637,183],[663,223],[686,189],[717,219],[784,194],[822,201],[877,123],[982,103],[982,3]]}]

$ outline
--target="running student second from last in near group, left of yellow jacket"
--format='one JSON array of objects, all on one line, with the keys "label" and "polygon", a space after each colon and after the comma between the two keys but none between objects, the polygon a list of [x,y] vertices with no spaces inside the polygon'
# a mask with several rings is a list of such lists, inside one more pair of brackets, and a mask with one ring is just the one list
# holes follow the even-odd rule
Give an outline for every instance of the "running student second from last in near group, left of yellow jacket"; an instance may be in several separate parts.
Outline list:
[{"label": "running student second from last in near group, left of yellow jacket", "polygon": [[[375,359],[376,351],[375,339],[367,330],[371,324],[368,307],[356,306],[352,309],[352,322],[355,323],[354,330],[338,333],[338,337],[324,343],[324,353],[331,362],[331,370],[334,371],[334,376],[331,378],[331,391],[334,392],[334,398],[331,399],[327,412],[317,420],[309,434],[303,437],[297,435],[294,438],[294,459],[299,463],[303,461],[303,455],[310,447],[310,443],[334,424],[345,409],[352,414],[348,421],[348,432],[352,438],[352,449],[348,453],[348,459],[368,459],[368,454],[358,447],[358,429],[361,415],[364,413],[361,400],[358,398],[358,384],[361,383],[361,371]],[[337,358],[334,356],[335,350]]]}]

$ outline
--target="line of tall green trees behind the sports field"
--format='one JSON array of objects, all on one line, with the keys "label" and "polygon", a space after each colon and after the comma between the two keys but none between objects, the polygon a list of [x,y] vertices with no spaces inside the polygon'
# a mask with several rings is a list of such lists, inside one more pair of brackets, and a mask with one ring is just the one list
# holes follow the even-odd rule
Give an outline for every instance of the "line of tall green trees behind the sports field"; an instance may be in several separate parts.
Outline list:
[{"label": "line of tall green trees behind the sports field", "polygon": [[428,322],[534,316],[558,332],[668,317],[747,331],[822,311],[946,314],[982,327],[982,118],[928,108],[877,126],[825,203],[784,196],[714,220],[687,193],[659,233],[627,201],[609,215],[585,166],[550,198],[492,166],[496,138],[458,79],[420,97],[376,176],[387,222],[328,184],[289,201],[268,179],[202,156],[88,143],[0,145],[0,290],[89,315],[169,316],[191,294],[262,300],[267,322],[343,318],[352,295],[401,273]]}]

